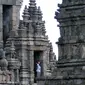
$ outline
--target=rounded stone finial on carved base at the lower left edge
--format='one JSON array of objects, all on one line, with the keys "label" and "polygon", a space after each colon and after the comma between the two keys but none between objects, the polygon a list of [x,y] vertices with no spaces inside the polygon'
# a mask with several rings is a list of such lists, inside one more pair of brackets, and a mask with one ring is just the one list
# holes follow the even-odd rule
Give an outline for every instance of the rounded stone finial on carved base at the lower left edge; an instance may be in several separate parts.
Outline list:
[{"label": "rounded stone finial on carved base at the lower left edge", "polygon": [[5,57],[5,52],[0,49],[0,84],[7,83],[11,81],[11,72],[8,71],[8,61]]}]

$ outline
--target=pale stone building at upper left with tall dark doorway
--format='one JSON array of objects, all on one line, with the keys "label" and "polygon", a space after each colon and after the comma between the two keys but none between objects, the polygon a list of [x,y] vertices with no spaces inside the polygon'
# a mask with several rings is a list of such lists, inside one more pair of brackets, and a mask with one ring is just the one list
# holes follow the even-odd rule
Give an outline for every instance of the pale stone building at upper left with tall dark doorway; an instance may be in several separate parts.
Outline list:
[{"label": "pale stone building at upper left with tall dark doorway", "polygon": [[10,30],[19,26],[22,0],[0,0],[0,43],[5,46]]}]

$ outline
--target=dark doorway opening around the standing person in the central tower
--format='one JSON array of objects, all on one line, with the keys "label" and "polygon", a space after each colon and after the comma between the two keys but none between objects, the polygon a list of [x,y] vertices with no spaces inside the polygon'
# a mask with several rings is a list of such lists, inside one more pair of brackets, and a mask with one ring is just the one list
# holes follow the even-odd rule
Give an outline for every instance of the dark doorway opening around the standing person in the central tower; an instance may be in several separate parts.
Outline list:
[{"label": "dark doorway opening around the standing person in the central tower", "polygon": [[43,74],[43,51],[34,51],[34,82],[36,83],[36,77],[37,77],[37,72],[36,72],[36,67],[37,67],[37,62],[40,61],[40,66],[41,66],[41,76]]}]

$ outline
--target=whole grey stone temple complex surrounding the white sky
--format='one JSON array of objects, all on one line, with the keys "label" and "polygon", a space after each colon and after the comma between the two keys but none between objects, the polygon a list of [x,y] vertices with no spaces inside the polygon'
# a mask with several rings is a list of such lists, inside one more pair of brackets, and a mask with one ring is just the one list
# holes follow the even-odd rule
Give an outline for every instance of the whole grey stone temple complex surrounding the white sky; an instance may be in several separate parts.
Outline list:
[{"label": "whole grey stone temple complex surrounding the white sky", "polygon": [[29,0],[20,20],[22,2],[0,0],[0,85],[85,85],[85,1],[63,0],[58,5],[58,61],[40,7]]}]

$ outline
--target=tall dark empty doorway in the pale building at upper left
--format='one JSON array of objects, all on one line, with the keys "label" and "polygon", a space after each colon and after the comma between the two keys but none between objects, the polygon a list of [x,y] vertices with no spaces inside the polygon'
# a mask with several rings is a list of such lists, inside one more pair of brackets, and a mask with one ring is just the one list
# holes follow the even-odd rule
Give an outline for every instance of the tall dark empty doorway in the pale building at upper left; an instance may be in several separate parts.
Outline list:
[{"label": "tall dark empty doorway in the pale building at upper left", "polygon": [[5,45],[12,29],[12,5],[3,5],[3,43]]}]

